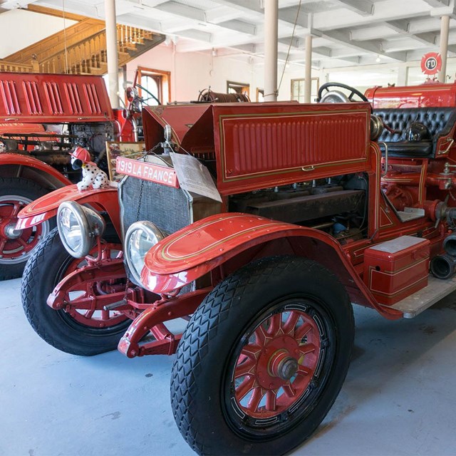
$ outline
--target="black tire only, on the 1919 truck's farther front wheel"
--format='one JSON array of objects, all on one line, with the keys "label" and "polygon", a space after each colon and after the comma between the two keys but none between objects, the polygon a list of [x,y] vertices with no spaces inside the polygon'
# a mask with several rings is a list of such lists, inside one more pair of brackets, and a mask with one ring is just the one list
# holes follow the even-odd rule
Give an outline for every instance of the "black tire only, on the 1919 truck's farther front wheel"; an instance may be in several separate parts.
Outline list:
[{"label": "black tire only, on the 1919 truck's farther front wheel", "polygon": [[[118,242],[118,239],[107,240]],[[114,350],[130,326],[130,319],[109,328],[90,328],[74,321],[65,311],[51,309],[46,304],[72,260],[63,247],[58,229],[53,229],[24,269],[21,299],[28,322],[44,341],[66,353],[93,356]]]}]

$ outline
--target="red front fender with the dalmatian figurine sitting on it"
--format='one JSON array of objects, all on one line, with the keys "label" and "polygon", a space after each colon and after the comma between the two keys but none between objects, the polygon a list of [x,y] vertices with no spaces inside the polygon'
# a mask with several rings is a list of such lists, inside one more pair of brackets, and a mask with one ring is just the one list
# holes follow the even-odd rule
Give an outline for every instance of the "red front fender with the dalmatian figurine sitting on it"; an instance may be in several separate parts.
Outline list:
[{"label": "red front fender with the dalmatian figurine sitting on it", "polygon": [[19,212],[17,229],[26,229],[50,219],[57,214],[58,206],[64,201],[76,201],[79,204],[92,204],[95,209],[108,212],[115,231],[120,235],[120,209],[116,188],[107,187],[99,190],[79,191],[76,185],[54,190],[48,195],[35,199]]}]

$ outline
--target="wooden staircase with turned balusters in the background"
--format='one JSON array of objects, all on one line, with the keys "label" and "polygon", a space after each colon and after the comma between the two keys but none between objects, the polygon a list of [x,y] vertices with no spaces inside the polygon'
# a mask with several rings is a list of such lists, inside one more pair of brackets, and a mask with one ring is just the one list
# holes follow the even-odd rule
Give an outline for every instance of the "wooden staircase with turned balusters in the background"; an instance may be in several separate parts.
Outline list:
[{"label": "wooden staircase with turned balusters in the background", "polygon": [[[164,35],[120,24],[117,38],[119,67],[165,41]],[[86,18],[0,59],[0,71],[103,75],[106,62],[105,23]]]}]

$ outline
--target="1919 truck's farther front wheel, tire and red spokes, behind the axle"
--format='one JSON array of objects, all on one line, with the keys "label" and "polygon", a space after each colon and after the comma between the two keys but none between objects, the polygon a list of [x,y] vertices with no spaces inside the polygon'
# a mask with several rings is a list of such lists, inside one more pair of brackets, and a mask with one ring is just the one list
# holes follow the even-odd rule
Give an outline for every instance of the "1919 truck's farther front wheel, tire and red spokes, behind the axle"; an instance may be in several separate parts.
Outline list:
[{"label": "1919 truck's farther front wheel, tire and red spokes, behind the axle", "polygon": [[[108,257],[116,257],[121,246],[105,244],[104,249]],[[53,229],[26,265],[21,298],[29,323],[47,343],[67,353],[91,356],[115,349],[130,318],[117,311],[71,309],[67,312],[51,309],[46,304],[58,282],[84,264],[84,259],[75,259],[66,252],[57,228]],[[73,299],[88,294],[120,291],[125,289],[125,281],[126,276],[116,281],[81,282],[66,290],[66,301],[72,304]]]}]

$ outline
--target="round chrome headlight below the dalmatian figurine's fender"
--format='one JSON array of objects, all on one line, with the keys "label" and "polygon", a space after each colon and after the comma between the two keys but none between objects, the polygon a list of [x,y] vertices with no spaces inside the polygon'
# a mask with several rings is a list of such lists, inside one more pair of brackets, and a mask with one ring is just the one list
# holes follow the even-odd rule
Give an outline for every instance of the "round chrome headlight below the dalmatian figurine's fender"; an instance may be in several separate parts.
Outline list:
[{"label": "round chrome headlight below the dalmatian figurine's fender", "polygon": [[72,257],[83,258],[93,249],[106,224],[93,209],[66,201],[58,207],[57,227],[66,251]]}]

